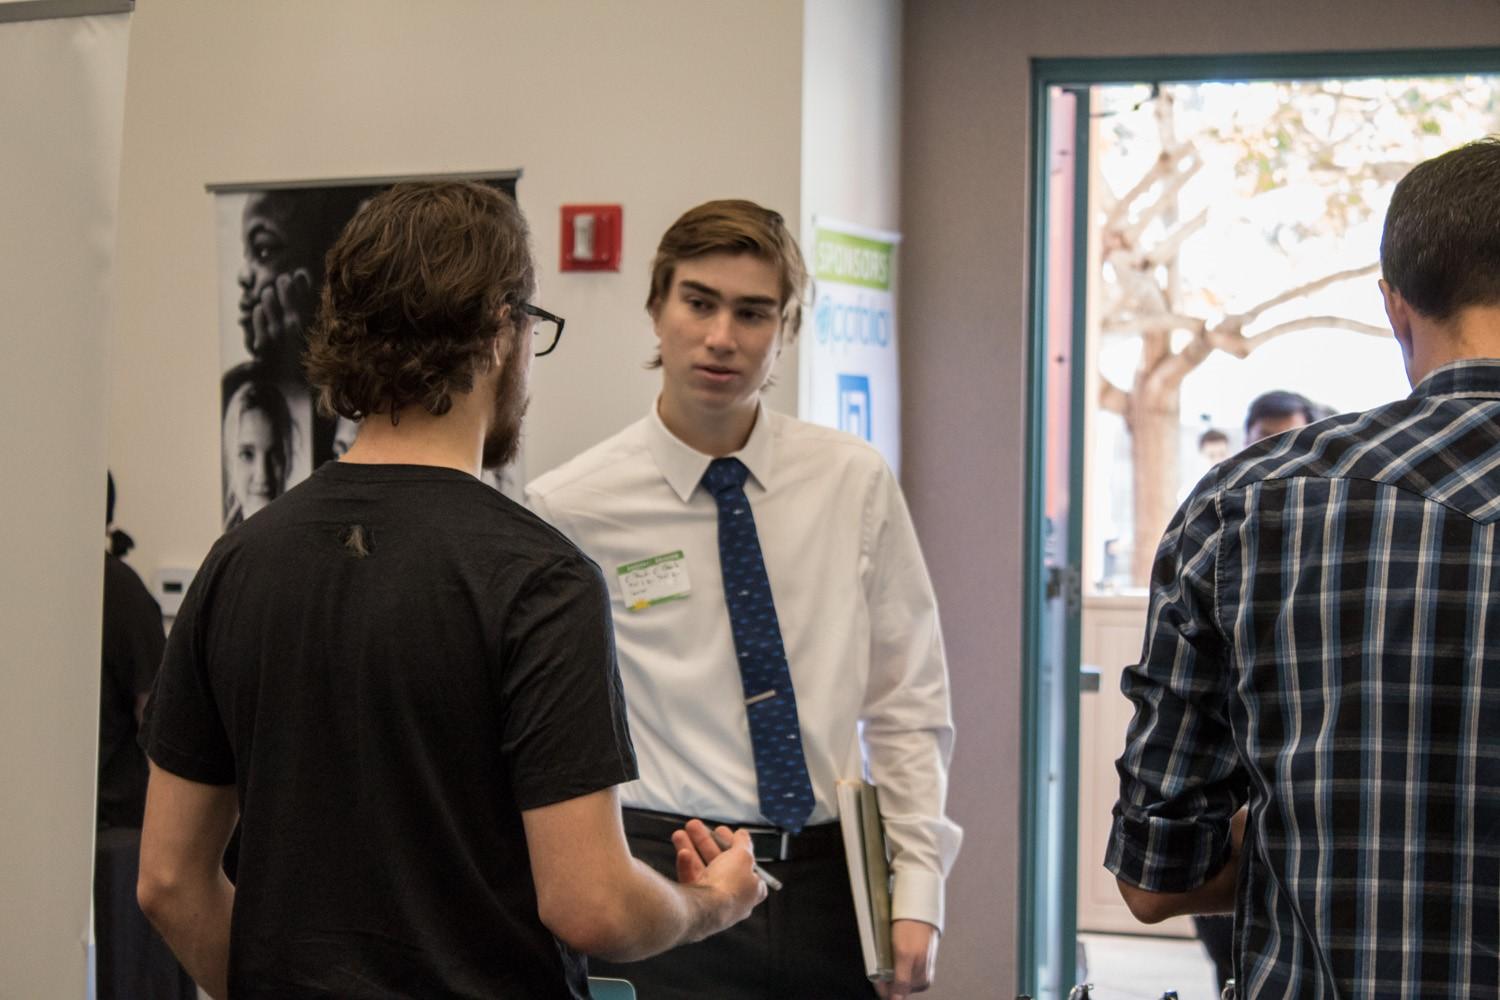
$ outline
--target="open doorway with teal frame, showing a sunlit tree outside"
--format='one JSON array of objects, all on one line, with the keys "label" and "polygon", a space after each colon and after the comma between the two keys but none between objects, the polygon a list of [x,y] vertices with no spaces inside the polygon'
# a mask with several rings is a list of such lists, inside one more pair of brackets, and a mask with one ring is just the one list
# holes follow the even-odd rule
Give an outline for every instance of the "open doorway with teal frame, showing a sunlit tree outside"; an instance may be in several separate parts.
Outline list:
[{"label": "open doorway with teal frame, showing a sunlit tree outside", "polygon": [[1384,205],[1416,162],[1500,132],[1500,54],[1068,60],[1034,81],[1020,990],[1212,997],[1191,922],[1136,924],[1101,867],[1152,553],[1257,396],[1317,418],[1407,394],[1374,289]]}]

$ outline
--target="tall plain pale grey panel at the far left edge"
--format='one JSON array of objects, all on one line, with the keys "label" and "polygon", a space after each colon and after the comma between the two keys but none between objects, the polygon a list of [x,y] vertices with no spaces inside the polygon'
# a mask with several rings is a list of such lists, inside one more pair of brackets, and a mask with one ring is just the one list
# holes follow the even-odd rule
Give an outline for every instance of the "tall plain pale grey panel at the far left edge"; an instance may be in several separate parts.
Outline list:
[{"label": "tall plain pale grey panel at the far left edge", "polygon": [[0,24],[0,997],[82,997],[126,15]]}]

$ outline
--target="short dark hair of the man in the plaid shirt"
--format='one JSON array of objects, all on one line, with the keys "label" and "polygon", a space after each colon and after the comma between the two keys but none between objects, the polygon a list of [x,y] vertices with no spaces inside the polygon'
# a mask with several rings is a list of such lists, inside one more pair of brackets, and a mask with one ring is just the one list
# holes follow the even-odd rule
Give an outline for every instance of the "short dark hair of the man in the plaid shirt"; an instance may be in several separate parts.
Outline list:
[{"label": "short dark hair of the man in the plaid shirt", "polygon": [[1500,304],[1500,138],[1460,145],[1401,178],[1380,237],[1380,270],[1431,319]]}]

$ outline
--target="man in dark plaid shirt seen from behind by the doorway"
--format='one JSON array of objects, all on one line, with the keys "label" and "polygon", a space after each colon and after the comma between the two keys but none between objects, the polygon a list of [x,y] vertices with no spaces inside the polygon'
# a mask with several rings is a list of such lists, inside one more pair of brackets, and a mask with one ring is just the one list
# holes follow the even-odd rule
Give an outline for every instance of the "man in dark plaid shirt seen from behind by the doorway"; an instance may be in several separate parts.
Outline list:
[{"label": "man in dark plaid shirt seen from behind by the doorway", "polygon": [[1233,912],[1242,1000],[1500,996],[1500,139],[1396,186],[1380,264],[1412,396],[1218,465],[1122,682],[1106,867]]}]

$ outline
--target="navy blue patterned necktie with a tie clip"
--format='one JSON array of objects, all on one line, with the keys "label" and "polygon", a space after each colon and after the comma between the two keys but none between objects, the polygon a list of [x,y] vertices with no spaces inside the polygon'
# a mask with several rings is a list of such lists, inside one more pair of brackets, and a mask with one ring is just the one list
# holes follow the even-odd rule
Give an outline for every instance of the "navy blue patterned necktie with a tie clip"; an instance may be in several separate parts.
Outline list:
[{"label": "navy blue patterned necktie with a tie clip", "polygon": [[802,757],[796,696],[771,600],[771,580],[765,576],[760,538],[746,496],[748,472],[740,459],[714,459],[704,472],[704,487],[718,504],[718,567],[746,693],[760,814],[795,834],[813,811],[813,783]]}]

